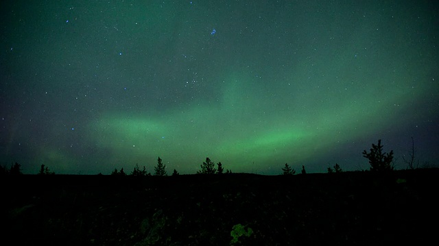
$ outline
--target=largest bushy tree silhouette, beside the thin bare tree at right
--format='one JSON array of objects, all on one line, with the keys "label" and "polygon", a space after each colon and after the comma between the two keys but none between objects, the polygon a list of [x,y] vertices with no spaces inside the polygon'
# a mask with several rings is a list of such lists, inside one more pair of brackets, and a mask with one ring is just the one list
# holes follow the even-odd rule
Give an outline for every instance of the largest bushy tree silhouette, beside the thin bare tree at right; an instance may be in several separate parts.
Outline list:
[{"label": "largest bushy tree silhouette, beside the thin bare tree at right", "polygon": [[369,159],[370,171],[390,171],[393,170],[393,150],[389,153],[383,152],[383,146],[381,145],[381,139],[378,140],[378,145],[372,143],[370,152],[363,151],[363,156]]}]

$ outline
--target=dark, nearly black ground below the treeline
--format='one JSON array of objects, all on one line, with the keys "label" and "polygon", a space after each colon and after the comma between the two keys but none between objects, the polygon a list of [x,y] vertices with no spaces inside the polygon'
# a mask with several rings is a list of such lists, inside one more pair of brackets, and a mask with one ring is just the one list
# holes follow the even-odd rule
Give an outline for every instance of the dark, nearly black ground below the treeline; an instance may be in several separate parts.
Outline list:
[{"label": "dark, nearly black ground below the treeline", "polygon": [[1,245],[425,245],[438,232],[439,169],[0,178]]}]

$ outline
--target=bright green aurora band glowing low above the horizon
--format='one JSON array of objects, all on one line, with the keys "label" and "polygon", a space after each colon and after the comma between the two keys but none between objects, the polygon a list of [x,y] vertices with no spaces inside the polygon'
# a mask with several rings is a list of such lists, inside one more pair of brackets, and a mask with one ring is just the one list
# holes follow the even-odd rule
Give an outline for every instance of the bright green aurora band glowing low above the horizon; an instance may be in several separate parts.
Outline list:
[{"label": "bright green aurora band glowing low above the horizon", "polygon": [[[91,125],[95,130],[91,137],[115,154],[123,152],[131,162],[163,156],[170,165],[194,163],[185,164],[187,169],[182,170],[191,173],[209,156],[223,163],[226,159],[234,169],[246,171],[253,161],[280,159],[285,153],[286,159],[279,161],[307,161],[333,144],[322,139],[347,141],[377,131],[382,125],[370,124],[370,119],[382,124],[393,120],[392,115],[399,111],[386,107],[404,96],[398,91],[383,96],[388,93],[385,88],[366,87],[345,98],[306,92],[279,105],[278,100],[261,101],[266,92],[245,75],[228,78],[224,79],[222,100],[216,104],[197,104],[185,113],[108,114]],[[312,107],[296,108],[297,101]],[[388,111],[386,117],[380,118],[383,111]]]}]

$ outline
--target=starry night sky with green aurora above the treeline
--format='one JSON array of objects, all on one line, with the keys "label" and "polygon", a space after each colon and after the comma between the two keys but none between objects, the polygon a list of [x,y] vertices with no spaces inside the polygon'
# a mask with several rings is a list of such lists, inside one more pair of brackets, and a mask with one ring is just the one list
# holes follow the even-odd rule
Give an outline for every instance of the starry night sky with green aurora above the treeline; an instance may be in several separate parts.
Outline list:
[{"label": "starry night sky with green aurora above the treeline", "polygon": [[1,1],[0,163],[439,163],[436,1]]}]

